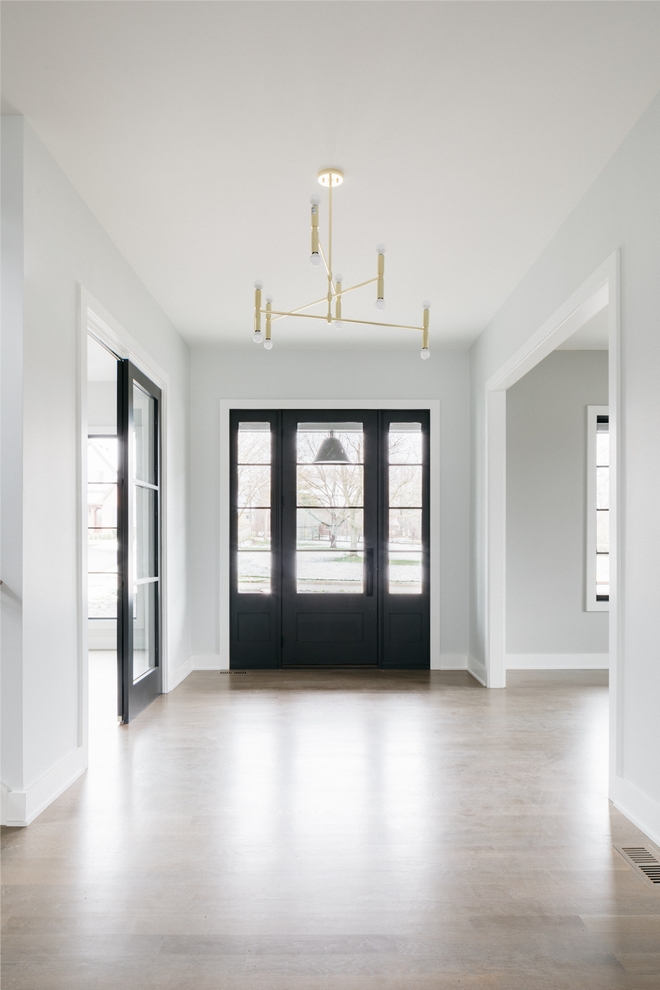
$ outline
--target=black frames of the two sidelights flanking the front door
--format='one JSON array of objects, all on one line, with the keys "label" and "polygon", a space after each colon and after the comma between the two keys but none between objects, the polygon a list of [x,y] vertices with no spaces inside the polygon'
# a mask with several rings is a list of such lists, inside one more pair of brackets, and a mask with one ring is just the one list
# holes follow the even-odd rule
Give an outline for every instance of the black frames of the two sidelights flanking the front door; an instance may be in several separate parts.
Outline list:
[{"label": "black frames of the two sidelights flanking the front door", "polygon": [[[301,404],[302,405],[302,404]],[[230,560],[230,628],[229,628],[229,666],[231,669],[239,668],[281,668],[282,667],[282,435],[283,419],[290,415],[300,415],[304,413],[310,421],[320,421],[325,415],[326,418],[339,420],[343,417],[358,421],[367,413],[378,417],[378,436],[380,443],[377,451],[378,460],[378,515],[377,515],[377,545],[376,545],[376,567],[380,567],[374,573],[375,594],[378,602],[378,653],[377,666],[379,668],[392,669],[425,669],[430,668],[431,654],[431,598],[430,598],[430,503],[431,503],[431,445],[430,445],[430,421],[431,410],[427,408],[405,408],[405,409],[366,409],[348,408],[350,403],[342,407],[300,408],[300,409],[254,409],[254,408],[230,408],[229,409],[229,480],[230,480],[230,540],[229,540],[229,560]],[[385,405],[385,404],[384,404]],[[237,554],[237,430],[239,422],[269,422],[272,431],[272,464],[271,472],[271,547],[272,547],[272,593],[266,595],[238,594],[236,560]],[[424,445],[424,468],[423,468],[423,491],[424,503],[422,512],[422,541],[423,541],[423,593],[418,595],[389,595],[385,587],[385,576],[387,574],[387,427],[391,422],[420,422],[422,423],[422,436]],[[420,598],[422,601],[420,601]],[[267,602],[266,602],[267,599]],[[268,609],[265,608],[266,604]],[[261,631],[257,630],[251,641],[242,641],[239,637],[238,606],[245,615],[265,614],[268,612],[268,629],[266,623],[259,620],[262,626]],[[411,614],[420,617],[421,622],[414,621],[420,628],[419,644],[405,649],[406,662],[401,660],[401,648],[394,650],[387,648],[387,641],[391,637],[388,635],[388,624],[391,625],[390,615],[395,614],[399,628],[403,628],[406,623],[410,625],[413,621]],[[246,621],[246,626],[249,620]],[[396,655],[395,655],[396,654]],[[308,665],[305,665],[308,666]],[[316,666],[316,665],[310,665]],[[341,664],[332,664],[341,666]]]}]

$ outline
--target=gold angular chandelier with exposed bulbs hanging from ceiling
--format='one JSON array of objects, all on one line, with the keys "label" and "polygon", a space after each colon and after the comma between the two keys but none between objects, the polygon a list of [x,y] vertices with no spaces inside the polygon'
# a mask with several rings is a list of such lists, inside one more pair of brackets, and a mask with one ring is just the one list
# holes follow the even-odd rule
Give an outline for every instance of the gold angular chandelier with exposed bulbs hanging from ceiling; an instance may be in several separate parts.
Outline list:
[{"label": "gold angular chandelier with exposed bulbs hanging from ceiling", "polygon": [[[373,285],[374,282],[377,283],[376,288],[376,309],[382,310],[385,307],[385,247],[379,244],[376,248],[376,254],[378,257],[378,274],[374,278],[367,279],[366,282],[358,282],[357,285],[351,285],[350,288],[343,288],[343,279],[341,275],[335,275],[332,269],[332,190],[337,186],[340,186],[344,181],[344,174],[341,169],[338,168],[322,168],[318,175],[319,183],[328,190],[328,253],[326,255],[323,250],[323,246],[319,239],[319,203],[320,199],[318,196],[312,196],[312,255],[310,261],[313,265],[325,266],[326,275],[328,278],[328,291],[325,296],[320,299],[315,299],[314,302],[306,303],[304,306],[299,306],[297,309],[291,309],[287,312],[282,310],[273,309],[273,300],[271,296],[266,296],[266,306],[262,308],[262,282],[254,283],[254,342],[255,344],[260,344],[263,340],[264,347],[266,350],[270,350],[273,346],[272,338],[272,327],[276,320],[281,320],[285,316],[295,316],[305,320],[323,320],[326,324],[331,324],[336,327],[341,327],[344,323],[355,323],[360,326],[369,327],[392,327],[396,330],[418,330],[422,334],[422,350],[420,352],[421,357],[426,359],[430,356],[429,351],[429,309],[431,304],[429,302],[422,303],[423,308],[423,318],[422,326],[408,326],[404,323],[383,323],[380,320],[353,320],[349,317],[342,315],[342,297],[346,295],[347,292],[353,292],[355,289],[362,289],[365,285]],[[304,310],[312,309],[314,306],[319,306],[321,303],[327,303],[327,311],[323,315],[305,313]],[[334,306],[334,315],[333,315]],[[266,333],[265,336],[261,332],[261,318],[265,316],[266,323]]]}]

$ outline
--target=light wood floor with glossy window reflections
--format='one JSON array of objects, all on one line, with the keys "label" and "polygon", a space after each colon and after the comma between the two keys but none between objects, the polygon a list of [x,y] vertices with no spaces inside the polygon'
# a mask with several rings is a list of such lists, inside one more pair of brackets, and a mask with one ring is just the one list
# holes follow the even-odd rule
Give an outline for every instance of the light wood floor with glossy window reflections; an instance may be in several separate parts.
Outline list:
[{"label": "light wood floor with glossy window reflections", "polygon": [[602,675],[510,680],[194,673],[124,727],[106,699],[89,772],[4,830],[4,990],[658,990]]}]

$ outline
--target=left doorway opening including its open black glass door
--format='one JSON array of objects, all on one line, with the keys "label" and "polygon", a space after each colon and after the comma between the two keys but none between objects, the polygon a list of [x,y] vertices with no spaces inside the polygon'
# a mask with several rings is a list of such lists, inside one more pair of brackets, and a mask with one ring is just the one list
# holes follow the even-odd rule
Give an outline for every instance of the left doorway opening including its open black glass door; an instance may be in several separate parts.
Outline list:
[{"label": "left doorway opening including its open black glass door", "polygon": [[162,690],[161,390],[87,335],[89,716],[129,722]]}]

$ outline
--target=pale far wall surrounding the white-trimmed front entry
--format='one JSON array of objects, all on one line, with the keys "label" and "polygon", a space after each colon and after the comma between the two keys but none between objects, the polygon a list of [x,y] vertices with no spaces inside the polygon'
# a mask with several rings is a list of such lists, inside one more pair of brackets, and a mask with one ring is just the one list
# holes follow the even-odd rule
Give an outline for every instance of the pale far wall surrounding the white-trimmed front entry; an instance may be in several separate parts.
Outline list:
[{"label": "pale far wall surrounding the white-trimmed front entry", "polygon": [[[232,351],[192,352],[193,653],[220,652],[218,585],[219,400],[229,398],[440,399],[442,578],[440,652],[467,656],[469,587],[469,357],[434,350],[265,351],[252,343]],[[460,661],[456,661],[460,662]]]}]

